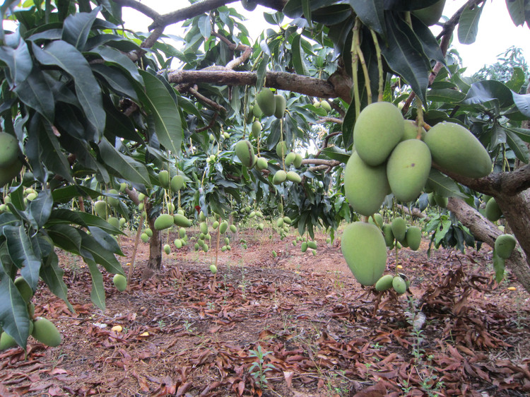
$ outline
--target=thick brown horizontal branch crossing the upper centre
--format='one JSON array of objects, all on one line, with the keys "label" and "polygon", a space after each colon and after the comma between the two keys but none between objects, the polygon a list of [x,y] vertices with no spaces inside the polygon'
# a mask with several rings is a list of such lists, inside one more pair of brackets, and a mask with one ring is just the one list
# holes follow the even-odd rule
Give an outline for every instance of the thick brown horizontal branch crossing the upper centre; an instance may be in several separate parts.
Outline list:
[{"label": "thick brown horizontal branch crossing the upper centre", "polygon": [[[170,83],[175,84],[210,83],[218,85],[255,85],[257,74],[249,71],[231,71],[229,69],[204,69],[201,71],[181,70],[170,72],[167,78]],[[329,81],[287,72],[267,72],[266,86],[323,98],[339,96],[334,85],[329,83]],[[344,97],[342,97],[342,99],[346,100]]]}]

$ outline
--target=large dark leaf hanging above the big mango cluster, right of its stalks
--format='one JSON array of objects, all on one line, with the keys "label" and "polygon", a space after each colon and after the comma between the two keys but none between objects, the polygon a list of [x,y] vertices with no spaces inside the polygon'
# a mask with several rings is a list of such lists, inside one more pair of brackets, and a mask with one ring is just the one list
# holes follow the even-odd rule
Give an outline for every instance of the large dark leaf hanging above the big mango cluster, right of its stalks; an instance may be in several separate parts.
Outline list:
[{"label": "large dark leaf hanging above the big mango cluster, right of its stalks", "polygon": [[411,85],[425,103],[430,64],[411,27],[400,18],[387,18],[387,45],[381,46],[390,68]]}]

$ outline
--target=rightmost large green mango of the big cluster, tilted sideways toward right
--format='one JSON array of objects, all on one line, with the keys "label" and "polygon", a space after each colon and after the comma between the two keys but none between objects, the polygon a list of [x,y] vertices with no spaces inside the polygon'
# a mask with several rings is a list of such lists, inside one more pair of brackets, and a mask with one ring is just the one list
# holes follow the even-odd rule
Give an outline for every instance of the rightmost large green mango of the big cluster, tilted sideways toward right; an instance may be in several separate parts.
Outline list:
[{"label": "rightmost large green mango of the big cluster, tilted sideways toward right", "polygon": [[469,129],[451,122],[436,124],[425,134],[432,161],[444,170],[469,178],[490,174],[488,151]]}]

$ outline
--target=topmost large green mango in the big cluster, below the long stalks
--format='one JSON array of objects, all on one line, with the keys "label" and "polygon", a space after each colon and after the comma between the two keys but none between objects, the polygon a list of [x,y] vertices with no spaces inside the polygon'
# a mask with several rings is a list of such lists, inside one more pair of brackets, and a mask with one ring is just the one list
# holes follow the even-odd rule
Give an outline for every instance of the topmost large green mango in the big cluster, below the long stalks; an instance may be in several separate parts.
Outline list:
[{"label": "topmost large green mango in the big cluster, below the long stalks", "polygon": [[404,134],[401,112],[390,102],[374,102],[360,112],[353,127],[353,142],[360,158],[375,167],[387,160]]}]

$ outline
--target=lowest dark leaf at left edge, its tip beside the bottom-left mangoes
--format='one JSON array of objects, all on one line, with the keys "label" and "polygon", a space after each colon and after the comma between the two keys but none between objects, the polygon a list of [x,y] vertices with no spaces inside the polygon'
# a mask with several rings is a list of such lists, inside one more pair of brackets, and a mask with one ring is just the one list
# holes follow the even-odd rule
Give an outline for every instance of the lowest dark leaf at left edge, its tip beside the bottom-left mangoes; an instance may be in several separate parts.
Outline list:
[{"label": "lowest dark leaf at left edge, its tip beside the bottom-left mangoes", "polygon": [[19,346],[25,348],[30,335],[28,309],[15,283],[2,266],[0,266],[0,324]]}]

